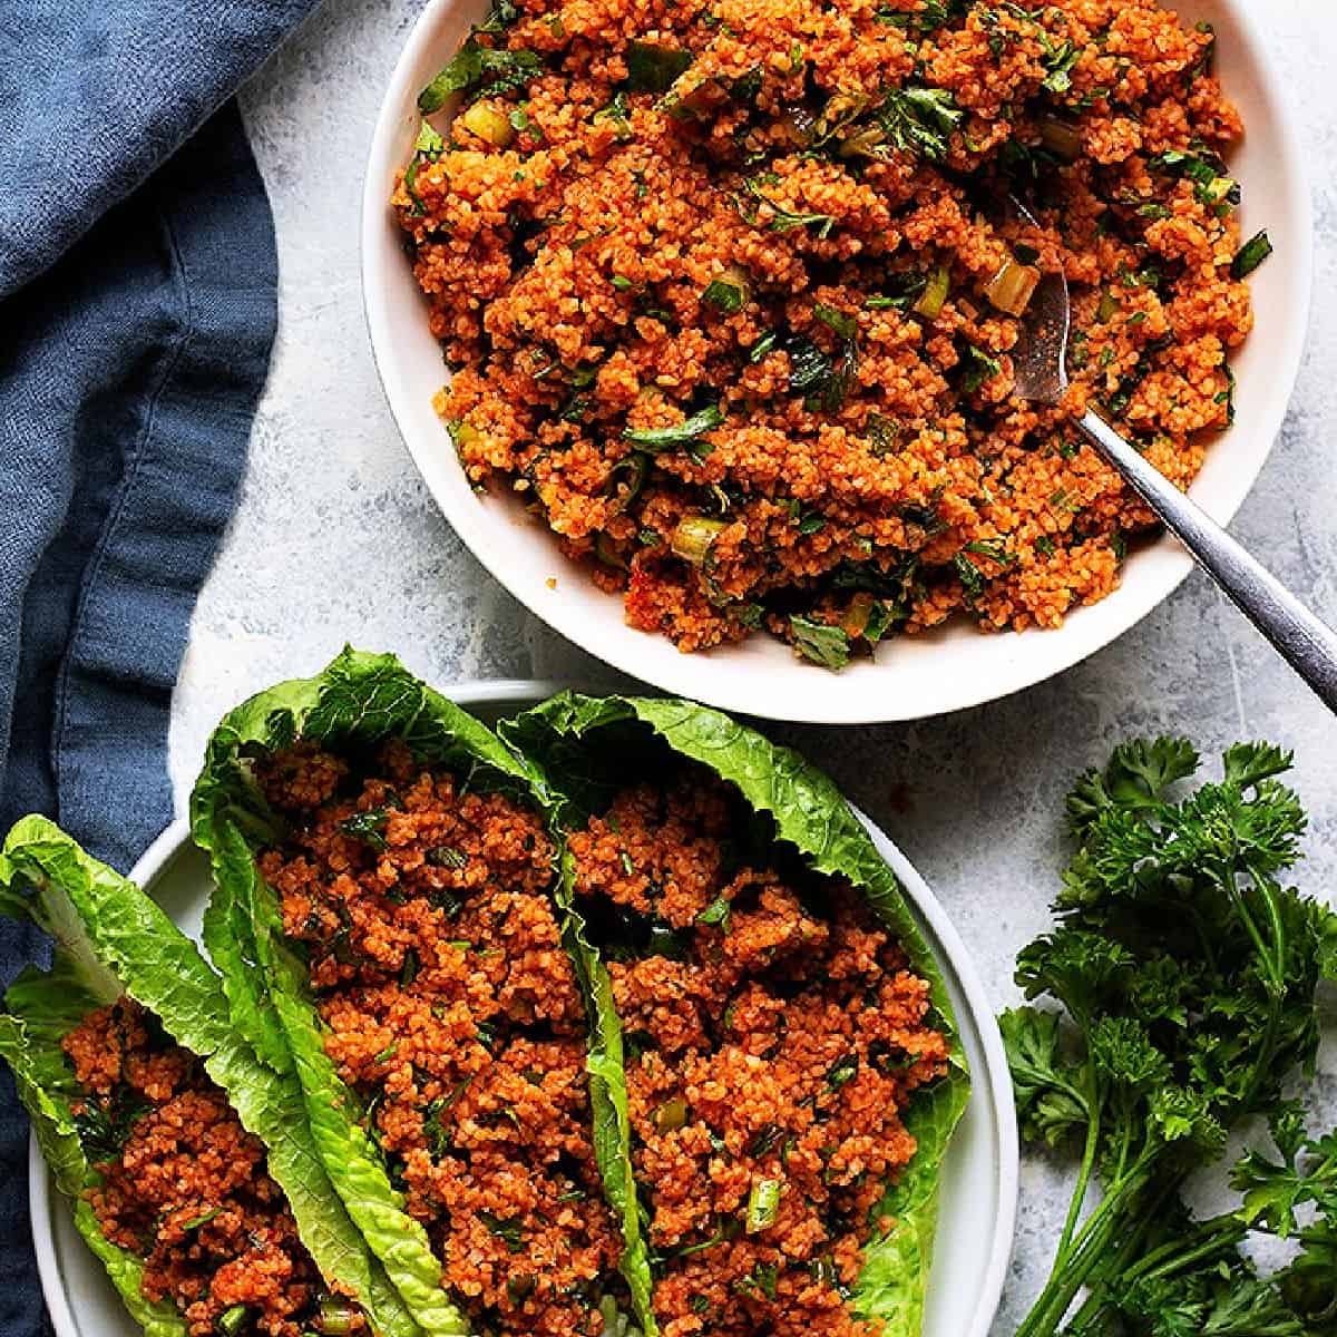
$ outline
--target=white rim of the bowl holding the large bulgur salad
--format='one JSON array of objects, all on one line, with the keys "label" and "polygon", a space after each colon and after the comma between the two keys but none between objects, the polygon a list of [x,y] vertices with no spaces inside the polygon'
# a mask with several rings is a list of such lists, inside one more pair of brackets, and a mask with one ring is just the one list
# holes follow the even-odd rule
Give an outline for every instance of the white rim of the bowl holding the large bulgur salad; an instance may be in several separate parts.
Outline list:
[{"label": "white rim of the bowl holding the large bulgur salad", "polygon": [[[723,671],[721,667],[711,668],[713,660],[719,664],[719,660],[730,651],[741,652],[742,646],[721,646],[710,651],[685,655],[667,638],[635,631],[626,626],[620,616],[615,616],[622,611],[620,596],[599,592],[600,599],[607,600],[610,606],[610,616],[603,618],[588,612],[583,599],[551,596],[558,584],[555,579],[550,579],[548,591],[540,591],[528,579],[520,579],[507,558],[509,544],[499,541],[507,536],[507,532],[492,513],[503,509],[503,497],[492,496],[487,499],[488,504],[469,507],[456,504],[447,488],[439,485],[435,469],[428,463],[428,459],[439,455],[448,443],[444,433],[441,441],[428,444],[422,440],[413,427],[409,402],[412,396],[406,388],[401,390],[397,377],[392,372],[394,360],[393,321],[389,314],[392,303],[384,295],[386,285],[381,282],[384,266],[377,245],[377,231],[384,230],[386,221],[388,203],[384,183],[389,179],[386,168],[396,164],[393,146],[398,122],[405,108],[412,106],[417,92],[413,78],[414,67],[435,44],[436,31],[451,12],[469,3],[471,0],[428,0],[409,31],[386,84],[362,179],[358,238],[362,309],[382,392],[400,437],[428,492],[451,528],[477,562],[533,616],[586,652],[632,678],[652,683],[662,691],[702,701],[722,710],[769,719],[796,723],[868,725],[928,719],[973,709],[1038,686],[1111,644],[1179,588],[1194,570],[1194,562],[1186,551],[1178,547],[1174,539],[1162,535],[1152,544],[1158,558],[1157,570],[1146,571],[1138,580],[1126,576],[1120,586],[1096,606],[1072,610],[1062,627],[1046,631],[1032,628],[1027,632],[1034,638],[1042,635],[1047,638],[1047,654],[1036,654],[1034,659],[1028,655],[1023,666],[1020,660],[1009,662],[1005,652],[1000,652],[996,662],[988,664],[989,673],[944,674],[939,681],[951,681],[953,687],[941,690],[932,699],[924,701],[910,693],[897,690],[900,683],[894,664],[885,662],[874,664],[872,660],[860,660],[841,674],[818,675],[814,666],[798,663],[789,647],[778,642],[774,647],[767,647],[769,654],[765,658],[729,660],[721,666]],[[1278,175],[1282,186],[1280,213],[1294,222],[1294,237],[1290,238],[1292,245],[1288,246],[1285,257],[1286,295],[1292,310],[1271,345],[1269,410],[1254,425],[1251,433],[1259,439],[1261,444],[1257,448],[1255,460],[1249,461],[1241,471],[1238,481],[1227,489],[1223,501],[1206,507],[1213,519],[1226,525],[1238,512],[1266,465],[1294,394],[1313,299],[1314,238],[1308,170],[1289,90],[1277,74],[1262,40],[1258,21],[1250,12],[1249,0],[1210,0],[1210,4],[1229,15],[1237,29],[1238,47],[1245,52],[1258,75],[1259,96],[1267,104],[1275,124],[1275,158],[1280,162]],[[1167,7],[1170,7],[1169,0]],[[1251,336],[1254,340],[1258,337],[1257,332]],[[1258,377],[1258,382],[1261,385],[1261,377]],[[1214,443],[1214,449],[1229,449],[1227,441],[1229,437],[1218,439]],[[453,452],[451,453],[453,459]],[[455,468],[459,468],[457,463]],[[588,583],[588,575],[575,570],[575,564],[559,554],[556,540],[551,533],[544,531],[541,539],[552,548],[556,571],[572,580]],[[528,535],[525,535],[525,541],[528,541]],[[1138,556],[1146,562],[1151,554],[1146,552]],[[590,584],[594,588],[592,583]],[[1102,614],[1100,608],[1106,611]],[[1095,616],[1083,619],[1083,614],[1095,614]],[[598,634],[595,635],[595,632]],[[933,632],[927,632],[916,639],[923,640],[932,635]],[[751,644],[755,639],[749,638],[749,642],[742,644]],[[774,651],[781,651],[782,655]],[[949,647],[947,652],[949,655]],[[786,663],[790,664],[789,673],[785,671]],[[808,677],[796,677],[793,668]],[[782,683],[770,686],[758,681],[758,675],[765,678],[777,673],[783,675]],[[822,682],[818,681],[820,678],[829,681]]]}]

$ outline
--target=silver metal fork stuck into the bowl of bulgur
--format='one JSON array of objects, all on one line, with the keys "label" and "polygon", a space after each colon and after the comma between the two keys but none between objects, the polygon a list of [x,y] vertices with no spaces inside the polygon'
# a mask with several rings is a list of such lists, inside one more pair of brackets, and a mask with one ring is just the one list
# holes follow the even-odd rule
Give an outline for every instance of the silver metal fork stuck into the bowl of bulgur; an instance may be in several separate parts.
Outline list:
[{"label": "silver metal fork stuck into the bowl of bulgur", "polygon": [[[1028,223],[1035,219],[1012,201]],[[1067,350],[1072,308],[1062,270],[1044,274],[1031,298],[1021,336],[1012,352],[1013,394],[1036,404],[1058,404],[1068,388]],[[1095,409],[1075,425],[1165,521],[1194,560],[1234,600],[1282,658],[1337,713],[1337,632],[1309,611],[1271,572],[1249,555],[1195,501],[1170,483]]]}]

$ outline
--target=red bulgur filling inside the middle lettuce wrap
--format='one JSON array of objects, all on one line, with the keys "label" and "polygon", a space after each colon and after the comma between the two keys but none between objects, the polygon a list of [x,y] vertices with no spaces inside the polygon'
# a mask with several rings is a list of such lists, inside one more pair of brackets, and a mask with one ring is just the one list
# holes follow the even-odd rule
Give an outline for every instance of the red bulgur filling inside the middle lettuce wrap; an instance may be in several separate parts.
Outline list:
[{"label": "red bulgur filling inside the middle lettuce wrap", "polygon": [[369,773],[298,745],[259,779],[293,818],[261,868],[308,949],[326,1051],[447,1285],[487,1330],[599,1333],[620,1237],[541,821],[402,745]]}]

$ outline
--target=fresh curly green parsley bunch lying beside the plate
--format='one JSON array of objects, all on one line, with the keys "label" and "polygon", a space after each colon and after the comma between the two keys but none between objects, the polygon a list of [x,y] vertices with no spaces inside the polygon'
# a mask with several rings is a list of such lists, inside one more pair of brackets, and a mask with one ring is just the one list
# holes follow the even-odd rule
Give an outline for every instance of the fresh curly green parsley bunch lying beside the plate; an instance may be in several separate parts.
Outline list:
[{"label": "fresh curly green parsley bunch lying beside the plate", "polygon": [[[1023,1136],[1080,1155],[1048,1282],[1017,1337],[1337,1337],[1337,1134],[1312,1138],[1284,1086],[1312,1075],[1316,991],[1337,977],[1337,915],[1285,885],[1305,814],[1290,755],[1199,758],[1136,741],[1068,797],[1078,850],[1058,927],[1017,959],[1001,1017]],[[1237,1211],[1194,1219],[1181,1190],[1229,1135],[1267,1119]],[[1298,1243],[1259,1275],[1253,1233]]]}]

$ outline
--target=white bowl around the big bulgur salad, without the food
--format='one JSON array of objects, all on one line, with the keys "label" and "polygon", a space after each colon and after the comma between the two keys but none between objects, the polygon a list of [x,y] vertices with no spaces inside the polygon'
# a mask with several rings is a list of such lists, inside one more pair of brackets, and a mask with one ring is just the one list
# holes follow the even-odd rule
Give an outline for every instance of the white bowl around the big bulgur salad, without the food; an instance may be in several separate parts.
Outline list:
[{"label": "white bowl around the big bulgur salad, without the food", "polygon": [[[664,636],[628,627],[620,596],[600,592],[564,560],[556,539],[519,500],[469,488],[432,410],[447,373],[388,201],[417,134],[418,90],[485,8],[487,0],[431,0],[394,68],[364,185],[362,291],[372,349],[409,453],[455,531],[532,612],[590,654],[666,691],[773,719],[869,723],[960,710],[1042,682],[1127,631],[1185,579],[1191,560],[1163,537],[1134,555],[1108,599],[1075,610],[1055,631],[985,635],[956,623],[901,636],[880,647],[876,660],[860,659],[840,674],[796,659],[765,635],[683,655]],[[1300,368],[1312,274],[1309,191],[1285,95],[1247,0],[1182,0],[1173,8],[1187,23],[1217,27],[1221,76],[1247,126],[1231,160],[1243,185],[1245,235],[1266,226],[1275,245],[1253,282],[1257,328],[1234,360],[1235,425],[1213,444],[1193,487],[1194,499],[1226,523],[1281,431]]]}]

